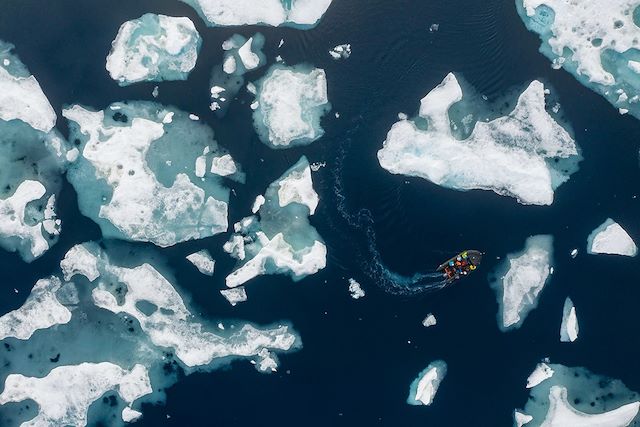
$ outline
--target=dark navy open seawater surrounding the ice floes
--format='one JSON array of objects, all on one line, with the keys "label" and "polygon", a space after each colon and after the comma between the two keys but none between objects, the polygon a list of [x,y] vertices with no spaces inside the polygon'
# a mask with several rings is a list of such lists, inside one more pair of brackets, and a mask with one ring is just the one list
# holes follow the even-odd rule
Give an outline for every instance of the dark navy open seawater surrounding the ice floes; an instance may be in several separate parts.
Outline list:
[{"label": "dark navy open seawater surrounding the ice floes", "polygon": [[[281,276],[256,279],[247,288],[249,301],[231,308],[218,294],[233,267],[222,251],[226,235],[162,250],[178,285],[206,317],[289,320],[304,347],[282,356],[273,375],[236,362],[231,369],[184,378],[168,391],[166,405],[144,407],[138,425],[509,426],[512,410],[526,402],[525,380],[543,357],[585,366],[640,391],[640,265],[637,259],[589,256],[585,248],[587,235],[607,217],[640,242],[640,123],[618,115],[568,73],[552,70],[513,1],[334,0],[315,29],[299,31],[207,28],[178,1],[5,0],[0,39],[16,45],[58,113],[70,103],[104,108],[113,101],[152,100],[153,84],[120,88],[104,68],[120,24],[146,12],[187,16],[204,39],[190,78],[160,84],[158,101],[198,114],[248,172],[246,185],[232,196],[230,222],[247,215],[254,197],[301,154],[326,161],[314,174],[321,202],[312,223],[329,256],[325,270],[299,283]],[[434,23],[439,30],[430,32]],[[281,54],[288,64],[309,62],[326,70],[333,111],[323,120],[326,135],[311,146],[276,151],[260,143],[245,94],[224,119],[208,110],[209,74],[222,60],[221,43],[233,33],[256,31],[267,38],[271,62]],[[277,50],[281,38],[285,44]],[[334,62],[327,54],[339,43],[352,44],[347,61]],[[379,166],[376,152],[397,113],[414,114],[420,98],[450,71],[490,100],[533,79],[550,84],[584,156],[552,206],[456,192]],[[66,134],[63,119],[58,127]],[[371,261],[366,233],[345,219],[353,220],[360,209],[370,211],[376,250],[388,268],[410,275],[461,249],[478,248],[487,252],[481,271],[435,294],[384,292],[365,272]],[[19,307],[35,280],[53,273],[71,246],[100,238],[99,228],[80,215],[69,185],[59,213],[61,239],[41,259],[25,264],[15,254],[0,254],[3,313]],[[487,274],[496,257],[541,233],[555,237],[555,273],[523,327],[502,333]],[[213,279],[184,259],[200,248],[217,259]],[[580,249],[576,259],[569,256],[573,248]],[[362,283],[365,298],[349,297],[349,277]],[[580,321],[573,344],[559,341],[566,296]],[[424,329],[429,312],[438,325]],[[435,359],[449,366],[435,403],[407,405],[409,384]]]}]

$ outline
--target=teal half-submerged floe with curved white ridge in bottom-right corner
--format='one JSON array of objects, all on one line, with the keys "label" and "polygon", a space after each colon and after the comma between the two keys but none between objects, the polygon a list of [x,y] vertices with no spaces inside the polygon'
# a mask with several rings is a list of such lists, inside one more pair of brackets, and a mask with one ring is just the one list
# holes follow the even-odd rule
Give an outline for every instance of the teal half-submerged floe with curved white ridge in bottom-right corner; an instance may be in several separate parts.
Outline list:
[{"label": "teal half-submerged floe with curved white ridge in bottom-right corner", "polygon": [[619,380],[559,364],[541,363],[536,371],[547,374],[528,386],[531,394],[524,410],[515,411],[516,425],[626,427],[638,421],[640,396]]}]

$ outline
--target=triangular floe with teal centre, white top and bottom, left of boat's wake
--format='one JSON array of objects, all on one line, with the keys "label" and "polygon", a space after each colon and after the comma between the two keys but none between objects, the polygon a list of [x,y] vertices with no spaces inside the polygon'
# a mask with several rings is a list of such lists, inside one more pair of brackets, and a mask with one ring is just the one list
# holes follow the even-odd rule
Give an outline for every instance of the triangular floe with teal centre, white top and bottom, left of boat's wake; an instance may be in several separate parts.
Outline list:
[{"label": "triangular floe with teal centre, white top and bottom, left of boat's wake", "polygon": [[300,280],[323,269],[327,247],[309,223],[318,200],[303,156],[269,185],[257,214],[234,225],[236,233],[224,249],[239,260],[239,266],[227,276],[227,286],[240,286],[263,274],[288,274]]}]

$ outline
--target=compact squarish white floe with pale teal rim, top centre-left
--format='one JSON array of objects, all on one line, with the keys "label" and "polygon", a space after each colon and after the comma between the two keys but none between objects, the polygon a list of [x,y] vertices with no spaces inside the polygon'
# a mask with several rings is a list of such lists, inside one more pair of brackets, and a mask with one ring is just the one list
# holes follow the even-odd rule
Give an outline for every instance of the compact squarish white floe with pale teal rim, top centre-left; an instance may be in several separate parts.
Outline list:
[{"label": "compact squarish white floe with pale teal rim, top centre-left", "polygon": [[256,82],[253,124],[271,148],[306,145],[324,135],[320,119],[331,109],[324,70],[300,64],[273,65]]}]

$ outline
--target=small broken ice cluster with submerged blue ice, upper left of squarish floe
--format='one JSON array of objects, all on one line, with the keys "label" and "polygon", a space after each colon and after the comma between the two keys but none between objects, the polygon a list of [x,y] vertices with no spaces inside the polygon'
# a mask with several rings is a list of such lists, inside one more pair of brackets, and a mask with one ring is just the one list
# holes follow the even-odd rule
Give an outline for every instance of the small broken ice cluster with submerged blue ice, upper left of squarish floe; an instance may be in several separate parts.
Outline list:
[{"label": "small broken ice cluster with submerged blue ice, upper left of squarish floe", "polygon": [[236,97],[242,85],[244,75],[262,67],[267,58],[262,53],[264,36],[254,34],[249,39],[234,34],[222,43],[224,56],[222,64],[211,72],[211,105],[210,109],[218,116],[223,116],[230,102]]}]

